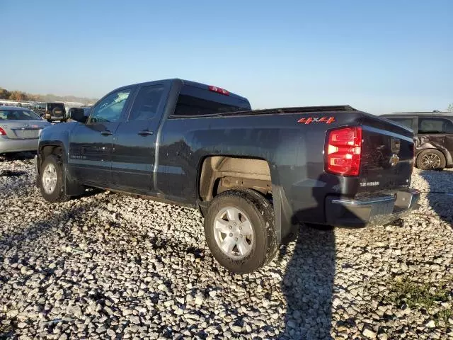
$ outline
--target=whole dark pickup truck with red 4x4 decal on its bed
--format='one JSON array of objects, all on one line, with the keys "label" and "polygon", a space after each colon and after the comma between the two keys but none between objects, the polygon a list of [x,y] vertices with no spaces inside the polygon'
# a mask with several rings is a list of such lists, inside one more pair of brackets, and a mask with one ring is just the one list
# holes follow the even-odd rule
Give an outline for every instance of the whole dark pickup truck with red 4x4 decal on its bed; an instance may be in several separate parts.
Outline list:
[{"label": "whole dark pickup truck with red 4x4 decal on its bed", "polygon": [[215,259],[246,273],[299,223],[364,227],[417,205],[413,135],[350,106],[251,111],[216,86],[124,86],[88,118],[42,130],[38,186],[50,202],[86,187],[199,208]]}]

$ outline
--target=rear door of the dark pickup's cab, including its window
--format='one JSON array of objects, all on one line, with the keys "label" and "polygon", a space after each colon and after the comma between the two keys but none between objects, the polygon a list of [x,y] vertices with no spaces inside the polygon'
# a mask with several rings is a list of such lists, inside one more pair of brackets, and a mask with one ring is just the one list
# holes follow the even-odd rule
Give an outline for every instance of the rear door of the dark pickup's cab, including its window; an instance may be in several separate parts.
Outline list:
[{"label": "rear door of the dark pickup's cab, including its window", "polygon": [[129,116],[118,126],[112,153],[113,186],[151,193],[156,135],[164,111],[164,84],[140,87]]}]

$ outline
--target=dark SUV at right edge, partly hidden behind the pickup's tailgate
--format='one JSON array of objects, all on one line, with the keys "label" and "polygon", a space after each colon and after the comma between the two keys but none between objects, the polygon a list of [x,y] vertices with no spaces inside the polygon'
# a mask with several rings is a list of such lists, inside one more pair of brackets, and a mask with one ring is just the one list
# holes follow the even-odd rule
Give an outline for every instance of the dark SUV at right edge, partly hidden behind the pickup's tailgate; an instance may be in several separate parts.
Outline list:
[{"label": "dark SUV at right edge, partly hidden behind the pickup's tailgate", "polygon": [[418,169],[453,167],[453,113],[401,112],[382,117],[413,130],[415,164]]}]

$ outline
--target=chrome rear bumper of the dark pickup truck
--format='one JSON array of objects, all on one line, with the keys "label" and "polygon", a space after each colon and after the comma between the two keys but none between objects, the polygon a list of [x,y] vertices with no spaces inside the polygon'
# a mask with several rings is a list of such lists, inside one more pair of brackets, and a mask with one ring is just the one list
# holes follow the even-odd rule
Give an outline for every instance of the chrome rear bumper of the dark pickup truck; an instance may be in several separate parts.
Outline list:
[{"label": "chrome rear bumper of the dark pickup truck", "polygon": [[384,225],[418,208],[420,191],[408,189],[394,194],[362,198],[326,198],[326,221],[338,227]]}]

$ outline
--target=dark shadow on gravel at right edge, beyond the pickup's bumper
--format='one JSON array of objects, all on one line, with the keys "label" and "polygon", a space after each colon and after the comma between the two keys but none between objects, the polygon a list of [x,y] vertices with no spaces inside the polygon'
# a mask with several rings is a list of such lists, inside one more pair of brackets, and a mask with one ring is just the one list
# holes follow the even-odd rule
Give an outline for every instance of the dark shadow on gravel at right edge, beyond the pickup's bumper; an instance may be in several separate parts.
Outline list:
[{"label": "dark shadow on gravel at right edge, beyond the pickup's bumper", "polygon": [[[421,171],[429,184],[429,192],[422,193],[429,207],[445,222],[453,223],[453,171]],[[425,197],[423,197],[425,196]]]}]

